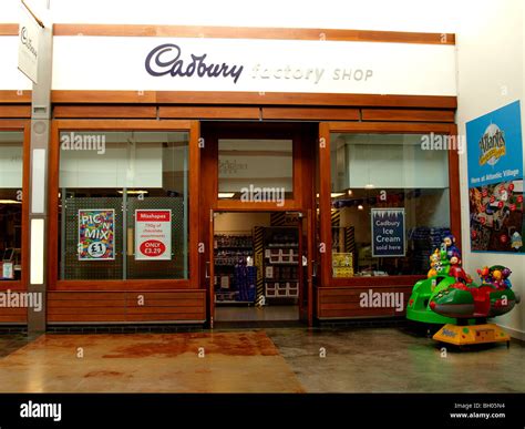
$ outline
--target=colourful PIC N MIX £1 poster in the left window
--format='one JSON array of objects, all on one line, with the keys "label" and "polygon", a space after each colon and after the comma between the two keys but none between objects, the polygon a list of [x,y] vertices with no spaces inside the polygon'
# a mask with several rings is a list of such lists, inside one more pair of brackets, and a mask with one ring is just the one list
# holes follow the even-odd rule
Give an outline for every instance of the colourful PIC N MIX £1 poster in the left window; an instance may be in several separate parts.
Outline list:
[{"label": "colourful PIC N MIX \u00a31 poster in the left window", "polygon": [[115,259],[115,211],[79,210],[79,261]]}]

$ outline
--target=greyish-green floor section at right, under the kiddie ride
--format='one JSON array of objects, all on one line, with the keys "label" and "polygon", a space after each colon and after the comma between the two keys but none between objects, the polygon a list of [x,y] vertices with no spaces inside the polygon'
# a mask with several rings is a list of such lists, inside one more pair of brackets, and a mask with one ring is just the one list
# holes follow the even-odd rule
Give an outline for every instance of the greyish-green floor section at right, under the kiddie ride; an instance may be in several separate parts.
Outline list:
[{"label": "greyish-green floor section at right, under the kiddie ride", "polygon": [[399,328],[267,334],[310,392],[525,392],[521,341],[443,353]]}]

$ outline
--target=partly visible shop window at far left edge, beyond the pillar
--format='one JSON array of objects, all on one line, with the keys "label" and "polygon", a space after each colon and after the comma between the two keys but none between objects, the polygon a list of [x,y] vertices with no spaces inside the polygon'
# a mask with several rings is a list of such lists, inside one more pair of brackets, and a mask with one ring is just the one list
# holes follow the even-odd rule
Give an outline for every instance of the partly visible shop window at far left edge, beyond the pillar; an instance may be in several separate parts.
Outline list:
[{"label": "partly visible shop window at far left edge, beyond the pillar", "polygon": [[23,132],[0,131],[0,280],[22,273]]}]

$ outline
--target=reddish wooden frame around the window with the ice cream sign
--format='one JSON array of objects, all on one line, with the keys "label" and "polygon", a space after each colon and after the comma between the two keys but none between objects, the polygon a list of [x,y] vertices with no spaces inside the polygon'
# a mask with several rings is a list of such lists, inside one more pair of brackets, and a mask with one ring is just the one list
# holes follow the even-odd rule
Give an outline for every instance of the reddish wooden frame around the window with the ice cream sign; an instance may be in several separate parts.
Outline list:
[{"label": "reddish wooden frame around the window with the ice cream sign", "polygon": [[[372,134],[421,134],[440,133],[457,135],[457,125],[453,123],[398,123],[398,122],[321,122],[319,124],[319,141],[322,143],[319,150],[319,175],[320,175],[320,242],[325,244],[326,252],[320,254],[321,284],[320,287],[346,287],[346,286],[380,286],[380,285],[413,285],[423,276],[385,276],[385,277],[352,277],[333,278],[331,269],[331,160],[330,160],[330,134],[331,133],[372,133]],[[449,150],[449,190],[450,190],[450,218],[451,231],[461,244],[461,197],[460,197],[460,159],[456,151]]]}]

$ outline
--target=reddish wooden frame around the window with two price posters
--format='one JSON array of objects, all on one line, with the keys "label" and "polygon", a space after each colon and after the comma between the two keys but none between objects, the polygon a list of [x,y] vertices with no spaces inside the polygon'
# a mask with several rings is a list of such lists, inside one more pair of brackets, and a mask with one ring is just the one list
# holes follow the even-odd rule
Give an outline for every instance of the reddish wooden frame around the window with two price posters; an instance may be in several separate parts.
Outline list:
[{"label": "reddish wooden frame around the window with two price posters", "polygon": [[[187,132],[188,142],[188,278],[187,279],[119,279],[119,280],[61,280],[59,279],[59,174],[60,174],[60,132],[61,131],[173,131]],[[198,217],[200,150],[198,121],[155,121],[155,120],[54,120],[51,127],[49,153],[49,290],[163,290],[196,289],[199,287],[198,241],[199,223],[191,222]]]}]

